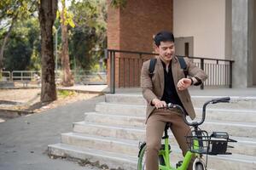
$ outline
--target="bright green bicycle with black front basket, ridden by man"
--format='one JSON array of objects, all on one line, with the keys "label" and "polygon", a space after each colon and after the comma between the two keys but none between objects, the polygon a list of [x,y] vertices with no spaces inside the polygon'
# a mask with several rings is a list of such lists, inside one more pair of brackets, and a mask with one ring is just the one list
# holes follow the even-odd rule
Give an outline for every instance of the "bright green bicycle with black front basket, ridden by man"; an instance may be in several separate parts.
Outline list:
[{"label": "bright green bicycle with black front basket, ridden by man", "polygon": [[[208,135],[207,131],[201,130],[199,126],[205,122],[206,118],[206,108],[208,104],[217,103],[228,103],[230,102],[230,97],[212,99],[207,101],[203,105],[202,117],[200,122],[188,122],[186,119],[186,114],[180,105],[168,104],[166,109],[177,108],[183,113],[183,121],[191,127],[192,134],[186,136],[187,144],[189,145],[189,150],[183,157],[183,161],[178,161],[176,167],[172,167],[170,161],[170,153],[172,152],[171,146],[169,144],[169,136],[167,130],[170,127],[170,123],[166,123],[164,135],[164,144],[161,144],[159,151],[159,169],[160,170],[186,170],[189,167],[189,162],[192,157],[195,157],[193,163],[194,170],[206,170],[207,169],[207,158],[206,161],[202,158],[203,155],[230,155],[227,152],[227,148],[233,148],[233,146],[228,145],[230,142],[236,142],[234,139],[229,138],[229,134],[226,132],[213,132]],[[147,144],[145,142],[139,144],[139,153],[137,161],[138,170],[146,170],[145,165],[145,152]]]}]

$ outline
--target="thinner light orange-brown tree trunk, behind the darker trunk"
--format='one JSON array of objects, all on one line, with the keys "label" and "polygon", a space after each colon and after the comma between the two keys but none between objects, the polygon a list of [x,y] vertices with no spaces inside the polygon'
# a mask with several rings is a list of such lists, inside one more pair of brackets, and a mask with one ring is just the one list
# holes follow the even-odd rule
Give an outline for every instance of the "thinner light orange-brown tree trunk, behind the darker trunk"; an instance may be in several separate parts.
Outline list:
[{"label": "thinner light orange-brown tree trunk, behind the darker trunk", "polygon": [[65,16],[65,1],[62,1],[61,11],[61,65],[63,71],[63,77],[61,84],[65,87],[73,86],[73,76],[70,71],[69,54],[68,54],[68,39],[67,39],[67,24]]}]

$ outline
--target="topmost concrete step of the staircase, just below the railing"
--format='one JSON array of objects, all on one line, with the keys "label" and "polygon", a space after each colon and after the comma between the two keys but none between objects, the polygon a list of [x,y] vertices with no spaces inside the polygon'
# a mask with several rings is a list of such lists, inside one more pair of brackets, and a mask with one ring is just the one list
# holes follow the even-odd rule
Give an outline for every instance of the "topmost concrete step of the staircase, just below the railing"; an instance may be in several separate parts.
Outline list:
[{"label": "topmost concrete step of the staircase, just below the railing", "polygon": [[[224,96],[191,96],[194,107],[202,107],[202,105],[215,98]],[[256,97],[237,97],[231,96],[230,103],[212,105],[212,108],[229,108],[229,109],[256,109]],[[106,94],[106,102],[131,104],[131,105],[145,105],[145,99],[142,94]]]}]

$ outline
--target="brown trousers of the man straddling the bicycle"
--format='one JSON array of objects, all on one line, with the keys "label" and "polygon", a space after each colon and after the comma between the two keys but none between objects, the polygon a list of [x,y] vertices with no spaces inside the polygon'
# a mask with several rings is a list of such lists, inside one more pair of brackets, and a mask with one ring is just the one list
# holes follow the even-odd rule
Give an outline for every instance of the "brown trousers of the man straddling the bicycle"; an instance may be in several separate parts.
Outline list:
[{"label": "brown trousers of the man straddling the bicycle", "polygon": [[[161,137],[165,130],[166,122],[171,122],[172,133],[183,151],[183,156],[186,154],[188,144],[184,136],[191,133],[190,127],[183,122],[183,117],[177,110],[154,110],[151,116],[148,117],[146,127],[146,167],[147,170],[158,170],[159,160],[158,154],[161,145]],[[172,146],[171,146],[172,147]],[[172,158],[171,158],[172,159]],[[193,163],[190,162],[189,170],[192,170]]]}]

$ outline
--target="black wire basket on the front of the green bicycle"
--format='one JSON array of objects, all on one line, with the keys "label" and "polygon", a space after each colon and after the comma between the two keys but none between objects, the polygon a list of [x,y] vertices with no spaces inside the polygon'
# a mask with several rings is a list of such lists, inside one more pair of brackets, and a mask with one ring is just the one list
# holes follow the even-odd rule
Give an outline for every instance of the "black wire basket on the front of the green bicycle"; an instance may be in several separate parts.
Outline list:
[{"label": "black wire basket on the front of the green bicycle", "polygon": [[236,142],[226,132],[213,132],[208,135],[207,131],[201,129],[192,131],[192,135],[186,136],[186,139],[191,152],[207,155],[230,155],[227,149],[233,147],[228,144]]}]

